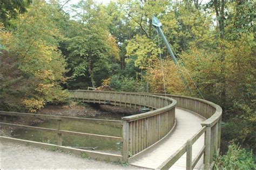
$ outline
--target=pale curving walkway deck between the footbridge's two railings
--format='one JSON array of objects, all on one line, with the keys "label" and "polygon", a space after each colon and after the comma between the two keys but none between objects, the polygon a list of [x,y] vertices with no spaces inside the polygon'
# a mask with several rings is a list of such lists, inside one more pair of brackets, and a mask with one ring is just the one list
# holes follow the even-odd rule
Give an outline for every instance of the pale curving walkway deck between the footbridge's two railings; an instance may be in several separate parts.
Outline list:
[{"label": "pale curving walkway deck between the footbridge's two railings", "polygon": [[[163,142],[159,144],[152,152],[146,153],[141,158],[132,161],[130,164],[138,167],[156,169],[166,159],[168,159],[179,147],[184,145],[201,128],[201,122],[204,121],[199,116],[191,112],[176,108],[176,128]],[[204,134],[192,146],[192,159],[204,146]],[[195,169],[203,164],[203,157],[198,161]],[[186,153],[171,167],[171,169],[186,169]]]}]

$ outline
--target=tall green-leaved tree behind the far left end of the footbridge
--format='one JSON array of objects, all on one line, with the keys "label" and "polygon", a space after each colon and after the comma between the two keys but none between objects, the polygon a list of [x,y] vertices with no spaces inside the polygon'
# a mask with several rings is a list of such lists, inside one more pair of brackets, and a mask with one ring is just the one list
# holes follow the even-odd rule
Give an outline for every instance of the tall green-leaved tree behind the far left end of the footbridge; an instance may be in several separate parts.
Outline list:
[{"label": "tall green-leaved tree behind the far left end of the footbridge", "polygon": [[100,86],[110,76],[110,61],[119,59],[116,39],[107,30],[103,11],[93,1],[80,1],[74,8],[83,12],[76,14],[79,23],[71,23],[77,30],[68,42],[72,79],[89,76],[92,87]]}]

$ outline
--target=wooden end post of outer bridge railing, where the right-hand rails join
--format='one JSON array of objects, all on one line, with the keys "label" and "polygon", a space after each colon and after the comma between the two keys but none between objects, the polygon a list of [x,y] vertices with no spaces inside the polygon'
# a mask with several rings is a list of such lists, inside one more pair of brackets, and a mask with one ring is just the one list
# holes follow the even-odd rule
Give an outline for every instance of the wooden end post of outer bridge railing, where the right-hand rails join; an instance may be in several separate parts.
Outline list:
[{"label": "wooden end post of outer bridge railing, where the right-hand rails join", "polygon": [[210,155],[211,155],[211,126],[206,127],[205,131],[205,154],[204,154],[204,163],[205,169],[208,169],[210,166]]}]

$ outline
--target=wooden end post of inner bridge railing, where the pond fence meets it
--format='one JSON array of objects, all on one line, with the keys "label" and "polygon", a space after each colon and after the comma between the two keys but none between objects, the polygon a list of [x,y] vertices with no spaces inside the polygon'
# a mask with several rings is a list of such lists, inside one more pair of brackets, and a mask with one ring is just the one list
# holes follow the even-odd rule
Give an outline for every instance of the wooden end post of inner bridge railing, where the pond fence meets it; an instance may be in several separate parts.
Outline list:
[{"label": "wooden end post of inner bridge railing, where the pond fence meets it", "polygon": [[127,162],[129,156],[129,122],[123,121],[123,161]]}]

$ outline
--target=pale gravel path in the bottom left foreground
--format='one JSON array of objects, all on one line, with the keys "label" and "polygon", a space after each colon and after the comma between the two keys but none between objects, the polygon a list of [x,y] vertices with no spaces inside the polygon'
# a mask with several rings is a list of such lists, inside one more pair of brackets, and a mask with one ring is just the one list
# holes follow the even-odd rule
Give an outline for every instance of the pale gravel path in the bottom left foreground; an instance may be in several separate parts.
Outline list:
[{"label": "pale gravel path in the bottom left foreground", "polygon": [[1,169],[134,169],[116,162],[83,159],[16,143],[0,142]]}]

